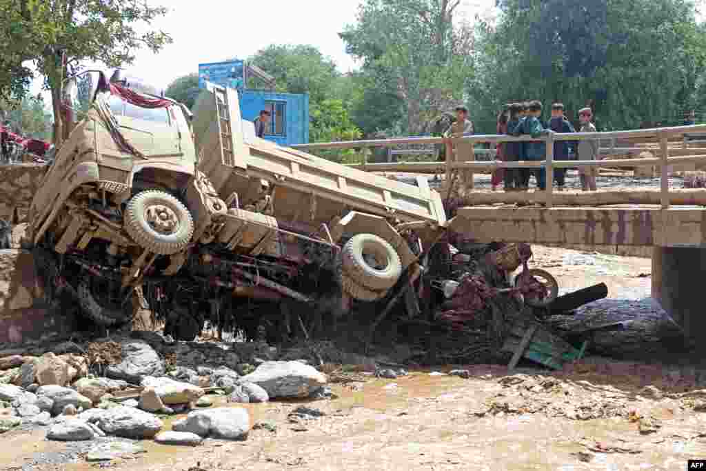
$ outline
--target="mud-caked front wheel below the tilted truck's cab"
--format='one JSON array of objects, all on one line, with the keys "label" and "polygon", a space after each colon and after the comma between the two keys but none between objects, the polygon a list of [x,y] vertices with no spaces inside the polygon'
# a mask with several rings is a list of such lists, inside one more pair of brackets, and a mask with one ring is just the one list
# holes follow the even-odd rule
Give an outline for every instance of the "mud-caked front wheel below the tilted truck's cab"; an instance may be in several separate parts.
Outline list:
[{"label": "mud-caked front wheel below the tilted truck's cab", "polygon": [[143,249],[173,255],[186,249],[193,235],[193,218],[177,198],[160,190],[137,193],[125,210],[125,229]]}]

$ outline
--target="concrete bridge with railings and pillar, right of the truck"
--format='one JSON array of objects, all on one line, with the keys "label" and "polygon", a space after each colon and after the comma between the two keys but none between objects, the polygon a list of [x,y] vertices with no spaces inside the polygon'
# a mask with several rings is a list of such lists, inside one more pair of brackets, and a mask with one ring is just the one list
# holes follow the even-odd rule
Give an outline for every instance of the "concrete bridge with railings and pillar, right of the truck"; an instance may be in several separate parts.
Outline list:
[{"label": "concrete bridge with railings and pillar, right of the truck", "polygon": [[[445,174],[453,179],[459,169],[491,172],[498,168],[542,169],[546,190],[505,193],[472,191],[458,208],[448,227],[477,242],[529,242],[576,249],[599,249],[618,255],[651,254],[652,297],[680,324],[687,336],[706,330],[702,316],[700,277],[706,274],[706,189],[670,189],[669,173],[675,166],[698,169],[706,164],[706,148],[688,148],[688,136],[706,133],[706,125],[678,126],[606,133],[566,133],[539,138],[530,136],[469,136],[453,143],[496,143],[544,141],[545,160],[520,162],[477,162],[472,152],[445,162],[385,162],[357,167],[370,172]],[[616,140],[633,143],[620,153],[644,150],[635,142],[654,143],[657,157],[622,158],[606,161],[554,160],[554,142]],[[369,141],[312,143],[295,147],[316,149],[393,147],[397,145],[441,144],[441,138],[396,138]],[[679,147],[678,150],[676,148]],[[471,145],[458,149],[472,149]],[[604,150],[605,153],[605,150]],[[669,156],[669,154],[677,154]],[[659,169],[660,187],[654,190],[554,191],[554,169],[573,167]],[[445,193],[445,192],[444,192]],[[443,194],[442,198],[446,195]]]}]

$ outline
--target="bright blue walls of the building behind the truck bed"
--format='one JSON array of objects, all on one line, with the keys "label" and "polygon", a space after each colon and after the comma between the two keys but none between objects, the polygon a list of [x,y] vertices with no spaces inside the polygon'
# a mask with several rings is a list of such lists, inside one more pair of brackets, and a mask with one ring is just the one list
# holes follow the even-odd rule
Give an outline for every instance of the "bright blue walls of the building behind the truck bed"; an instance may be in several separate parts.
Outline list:
[{"label": "bright blue walls of the building behind the truck bed", "polygon": [[243,70],[244,62],[240,60],[198,64],[198,86],[203,88],[204,82],[209,81],[223,87],[237,88],[241,116],[249,121],[256,119],[268,104],[284,105],[283,132],[265,135],[265,139],[279,145],[309,143],[309,95],[244,89]]}]

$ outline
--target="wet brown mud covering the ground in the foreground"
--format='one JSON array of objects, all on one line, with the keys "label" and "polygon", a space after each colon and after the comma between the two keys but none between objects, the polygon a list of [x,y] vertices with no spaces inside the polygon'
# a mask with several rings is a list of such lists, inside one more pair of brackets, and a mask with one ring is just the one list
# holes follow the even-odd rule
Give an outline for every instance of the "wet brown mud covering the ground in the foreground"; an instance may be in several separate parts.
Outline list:
[{"label": "wet brown mud covering the ground in the foreground", "polygon": [[[506,371],[491,366],[475,366],[471,373],[464,380],[417,371],[394,380],[335,385],[337,398],[308,404],[326,415],[306,421],[287,419],[299,403],[249,405],[253,422],[268,420],[276,431],[255,429],[245,442],[206,441],[198,448],[143,442],[146,453],[108,466],[179,471],[197,466],[208,471],[682,470],[689,458],[706,455],[706,415],[695,412],[693,397],[665,390],[662,398],[647,398],[637,384],[592,383],[585,380],[590,373],[503,376]],[[571,409],[579,413],[556,412],[572,404],[581,405]],[[0,460],[9,469],[30,462],[33,470],[95,466],[37,463],[37,457],[70,455],[76,449],[41,441],[38,432],[7,439],[17,445],[11,460],[8,454]]]}]

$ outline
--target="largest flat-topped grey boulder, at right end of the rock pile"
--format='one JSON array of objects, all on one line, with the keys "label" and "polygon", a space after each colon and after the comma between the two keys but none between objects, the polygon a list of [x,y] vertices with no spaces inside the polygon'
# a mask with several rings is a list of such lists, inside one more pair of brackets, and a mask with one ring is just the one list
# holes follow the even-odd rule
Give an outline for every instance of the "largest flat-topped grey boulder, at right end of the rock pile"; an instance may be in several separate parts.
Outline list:
[{"label": "largest flat-topped grey boulder, at right end of the rock pile", "polygon": [[306,398],[327,381],[321,371],[300,362],[264,362],[241,378],[241,383],[263,388],[270,398]]}]

